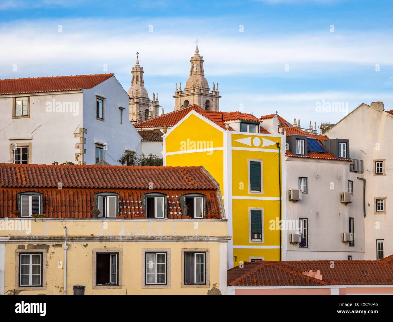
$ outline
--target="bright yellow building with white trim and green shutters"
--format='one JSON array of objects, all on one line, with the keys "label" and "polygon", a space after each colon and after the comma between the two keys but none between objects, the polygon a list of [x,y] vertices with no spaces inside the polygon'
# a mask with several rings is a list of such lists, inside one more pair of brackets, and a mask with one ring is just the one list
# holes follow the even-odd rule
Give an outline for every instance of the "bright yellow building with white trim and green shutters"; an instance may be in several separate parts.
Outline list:
[{"label": "bright yellow building with white trim and green shutters", "polygon": [[[163,136],[164,165],[202,165],[219,182],[233,237],[228,267],[253,259],[281,260],[285,137],[270,134],[251,114],[188,109],[175,125],[176,112],[156,118],[155,126],[171,126]],[[277,129],[277,117],[266,126]]]}]

